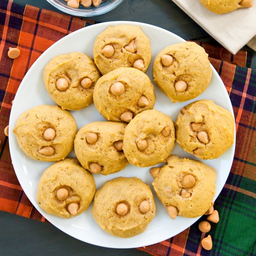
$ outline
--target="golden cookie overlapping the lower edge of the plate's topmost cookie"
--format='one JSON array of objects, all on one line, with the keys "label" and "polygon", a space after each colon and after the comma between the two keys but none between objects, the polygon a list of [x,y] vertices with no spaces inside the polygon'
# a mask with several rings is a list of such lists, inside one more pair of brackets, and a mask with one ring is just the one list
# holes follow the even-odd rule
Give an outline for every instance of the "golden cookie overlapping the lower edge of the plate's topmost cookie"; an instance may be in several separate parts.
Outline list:
[{"label": "golden cookie overlapping the lower edge of the plate's topmost cookie", "polygon": [[93,98],[105,119],[129,122],[138,113],[154,108],[155,88],[140,70],[120,67],[97,81]]}]

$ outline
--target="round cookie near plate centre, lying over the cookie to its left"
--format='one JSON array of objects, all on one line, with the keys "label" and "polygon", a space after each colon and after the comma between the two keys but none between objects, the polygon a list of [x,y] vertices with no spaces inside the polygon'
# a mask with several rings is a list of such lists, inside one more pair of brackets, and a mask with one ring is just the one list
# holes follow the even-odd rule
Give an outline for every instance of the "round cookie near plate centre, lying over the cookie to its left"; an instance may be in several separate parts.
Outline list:
[{"label": "round cookie near plate centre, lying over the cookie to its left", "polygon": [[175,127],[170,116],[146,110],[130,121],[124,132],[123,151],[128,161],[139,167],[164,162],[175,143]]}]

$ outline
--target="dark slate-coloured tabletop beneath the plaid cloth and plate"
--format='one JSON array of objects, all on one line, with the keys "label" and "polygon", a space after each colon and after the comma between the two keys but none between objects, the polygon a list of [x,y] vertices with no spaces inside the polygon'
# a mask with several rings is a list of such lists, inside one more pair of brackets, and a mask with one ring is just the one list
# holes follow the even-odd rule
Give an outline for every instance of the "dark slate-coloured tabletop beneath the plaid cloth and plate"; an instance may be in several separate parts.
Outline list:
[{"label": "dark slate-coloured tabletop beneath the plaid cloth and plate", "polygon": [[[60,12],[46,0],[14,0]],[[96,21],[131,20],[165,28],[185,40],[194,39],[216,44],[201,27],[171,0],[124,0],[109,13],[90,19]],[[246,48],[249,49],[249,48]],[[251,67],[256,69],[256,54]],[[108,249],[81,242],[53,225],[0,212],[0,256],[40,255],[147,255],[137,249]]]}]

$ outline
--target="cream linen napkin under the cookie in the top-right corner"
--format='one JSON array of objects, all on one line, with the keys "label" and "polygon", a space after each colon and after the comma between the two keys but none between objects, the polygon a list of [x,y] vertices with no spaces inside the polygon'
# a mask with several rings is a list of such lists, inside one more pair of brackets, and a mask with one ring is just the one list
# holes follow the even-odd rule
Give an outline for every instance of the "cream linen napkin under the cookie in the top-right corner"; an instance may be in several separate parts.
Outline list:
[{"label": "cream linen napkin under the cookie in the top-right corner", "polygon": [[173,1],[232,54],[256,35],[256,0],[251,8],[222,15],[210,12],[199,0]]}]

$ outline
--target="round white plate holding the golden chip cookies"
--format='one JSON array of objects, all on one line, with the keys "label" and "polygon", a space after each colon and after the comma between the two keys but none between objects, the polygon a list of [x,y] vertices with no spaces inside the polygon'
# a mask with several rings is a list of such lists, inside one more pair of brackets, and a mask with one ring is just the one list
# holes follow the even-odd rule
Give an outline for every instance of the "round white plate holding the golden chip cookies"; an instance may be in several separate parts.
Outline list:
[{"label": "round white plate holding the golden chip cookies", "polygon": [[[38,60],[35,61],[22,80],[11,111],[9,123],[9,144],[13,167],[21,187],[24,189],[24,192],[29,200],[33,203],[34,207],[38,209],[38,211],[49,222],[68,235],[87,243],[110,248],[134,248],[158,243],[175,236],[184,229],[187,229],[198,218],[177,217],[175,220],[170,219],[167,211],[155,194],[156,213],[154,220],[149,223],[148,228],[144,233],[126,239],[111,236],[97,225],[91,214],[92,204],[86,212],[71,219],[62,219],[61,217],[50,215],[43,211],[36,202],[36,189],[40,176],[52,163],[35,161],[27,157],[27,155],[25,155],[19,148],[18,142],[13,134],[15,123],[22,112],[41,104],[55,105],[54,101],[52,101],[48,95],[42,80],[43,69],[47,62],[58,54],[67,54],[69,52],[82,52],[88,54],[90,57],[93,57],[93,45],[97,35],[109,25],[115,26],[119,24],[140,26],[142,31],[148,36],[152,49],[152,61],[148,68],[147,74],[152,81],[152,65],[156,54],[158,54],[164,47],[167,47],[168,45],[184,41],[177,35],[172,34],[171,32],[168,32],[162,28],[128,21],[101,23],[82,28],[76,32],[73,32],[72,34],[67,35],[63,39],[56,42],[53,46],[49,47],[49,49],[47,49],[47,51],[45,51],[38,58]],[[216,104],[228,109],[231,113],[233,113],[229,95],[222,83],[221,78],[213,67],[212,72],[213,75],[209,88],[207,88],[203,94],[191,101],[173,104],[167,96],[162,94],[160,90],[155,87],[155,108],[170,115],[175,121],[183,106],[196,100],[209,99],[215,101]],[[71,113],[74,115],[78,128],[81,128],[85,124],[92,121],[104,121],[103,117],[94,108],[93,104],[85,109],[82,109],[81,111],[71,111]],[[216,169],[216,195],[214,200],[216,200],[216,197],[221,192],[227,180],[234,157],[234,151],[235,143],[221,157],[215,160],[202,161]],[[186,153],[182,148],[180,148],[177,143],[172,151],[172,154],[195,159],[193,155]],[[71,156],[74,157],[74,152],[71,153]],[[151,183],[153,182],[153,178],[151,175],[149,175],[149,168],[138,168],[129,164],[124,170],[121,170],[115,174],[107,176],[99,174],[94,175],[96,189],[101,188],[104,182],[120,176],[137,176],[138,178],[141,178],[143,182],[148,183],[152,188]]]}]

